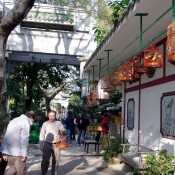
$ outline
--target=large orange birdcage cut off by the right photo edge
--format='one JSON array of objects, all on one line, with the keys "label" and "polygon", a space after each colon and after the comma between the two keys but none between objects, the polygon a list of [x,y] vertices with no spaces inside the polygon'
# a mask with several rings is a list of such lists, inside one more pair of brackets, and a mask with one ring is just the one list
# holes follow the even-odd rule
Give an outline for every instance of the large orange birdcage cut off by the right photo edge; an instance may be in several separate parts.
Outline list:
[{"label": "large orange birdcage cut off by the right photo edge", "polygon": [[167,29],[167,55],[168,61],[175,65],[175,22]]}]

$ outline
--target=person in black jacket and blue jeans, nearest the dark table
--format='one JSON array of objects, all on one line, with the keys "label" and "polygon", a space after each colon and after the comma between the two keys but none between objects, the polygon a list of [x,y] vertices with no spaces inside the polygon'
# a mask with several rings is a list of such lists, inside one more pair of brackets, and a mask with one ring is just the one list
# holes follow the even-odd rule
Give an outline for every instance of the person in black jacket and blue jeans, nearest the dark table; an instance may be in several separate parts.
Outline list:
[{"label": "person in black jacket and blue jeans, nearest the dark table", "polygon": [[78,127],[78,140],[77,145],[83,145],[86,135],[86,128],[89,125],[89,119],[86,114],[82,114],[79,119],[77,119],[77,127]]}]

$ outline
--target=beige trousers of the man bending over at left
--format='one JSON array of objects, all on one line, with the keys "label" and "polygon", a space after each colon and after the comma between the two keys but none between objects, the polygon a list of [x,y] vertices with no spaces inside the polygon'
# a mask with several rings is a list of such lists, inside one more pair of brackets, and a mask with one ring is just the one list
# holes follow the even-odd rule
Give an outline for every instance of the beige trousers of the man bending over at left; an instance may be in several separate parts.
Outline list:
[{"label": "beige trousers of the man bending over at left", "polygon": [[21,161],[21,156],[8,156],[9,169],[6,175],[25,175],[26,162]]}]

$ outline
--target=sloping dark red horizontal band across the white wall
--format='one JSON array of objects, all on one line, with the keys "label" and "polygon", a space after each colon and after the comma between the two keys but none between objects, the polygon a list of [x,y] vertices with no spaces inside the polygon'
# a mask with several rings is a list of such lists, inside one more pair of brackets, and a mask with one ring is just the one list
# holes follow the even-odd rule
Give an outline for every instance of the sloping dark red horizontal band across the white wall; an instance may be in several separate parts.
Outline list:
[{"label": "sloping dark red horizontal band across the white wall", "polygon": [[166,77],[162,77],[162,78],[159,78],[157,80],[153,80],[153,81],[150,81],[150,82],[147,82],[147,83],[144,83],[144,84],[139,84],[139,85],[131,87],[131,88],[127,88],[127,89],[125,89],[125,93],[138,91],[138,90],[141,90],[141,89],[161,85],[161,84],[168,83],[168,82],[171,82],[171,81],[175,81],[175,74],[169,75],[169,76],[166,76]]}]

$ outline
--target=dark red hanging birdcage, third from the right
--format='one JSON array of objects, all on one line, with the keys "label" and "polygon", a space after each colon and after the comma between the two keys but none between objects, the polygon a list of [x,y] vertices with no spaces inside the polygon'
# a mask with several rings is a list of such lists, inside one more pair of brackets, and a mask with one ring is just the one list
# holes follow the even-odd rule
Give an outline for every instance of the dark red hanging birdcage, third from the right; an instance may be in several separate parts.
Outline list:
[{"label": "dark red hanging birdcage, third from the right", "polygon": [[133,57],[135,72],[143,74],[148,71],[148,68],[144,67],[144,55],[143,53]]}]

